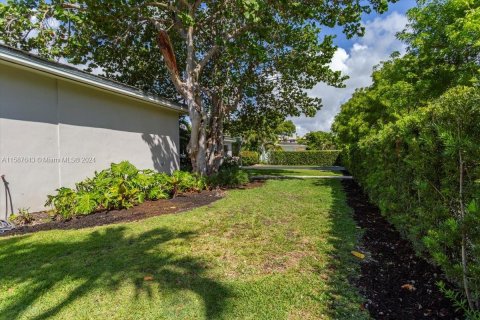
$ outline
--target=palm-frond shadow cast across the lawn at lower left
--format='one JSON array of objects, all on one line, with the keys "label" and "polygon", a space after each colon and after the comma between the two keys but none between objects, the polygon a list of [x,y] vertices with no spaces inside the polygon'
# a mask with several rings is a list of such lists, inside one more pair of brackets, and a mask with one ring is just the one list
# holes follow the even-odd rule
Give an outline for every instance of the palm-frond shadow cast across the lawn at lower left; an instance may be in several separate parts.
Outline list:
[{"label": "palm-frond shadow cast across the lawn at lower left", "polygon": [[[158,283],[169,293],[191,290],[204,302],[205,317],[214,319],[221,315],[227,288],[204,276],[205,266],[193,257],[177,257],[162,247],[174,239],[187,239],[192,233],[174,233],[158,228],[135,237],[125,236],[124,227],[93,232],[78,242],[21,243],[26,237],[1,241],[0,274],[2,281],[29,283],[28,291],[4,303],[0,309],[4,319],[16,319],[43,294],[59,282],[81,284],[67,297],[33,319],[47,319],[63,308],[75,303],[91,290],[115,291],[127,281],[135,284],[135,297],[146,294],[151,297],[151,283]],[[16,263],[12,263],[15,261]],[[145,282],[144,276],[153,280]]]}]

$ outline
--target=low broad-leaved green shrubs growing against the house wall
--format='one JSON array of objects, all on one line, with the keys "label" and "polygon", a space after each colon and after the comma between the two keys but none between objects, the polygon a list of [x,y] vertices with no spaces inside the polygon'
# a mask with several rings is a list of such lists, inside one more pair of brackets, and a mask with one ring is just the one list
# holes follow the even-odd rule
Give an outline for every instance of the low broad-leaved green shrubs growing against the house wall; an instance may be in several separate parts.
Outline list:
[{"label": "low broad-leaved green shrubs growing against the house wall", "polygon": [[52,206],[64,219],[87,215],[96,210],[131,208],[145,200],[166,199],[180,192],[206,188],[204,177],[184,171],[171,176],[153,170],[138,170],[128,161],[112,163],[110,168],[95,172],[75,185],[59,188],[49,195],[46,206]]}]

